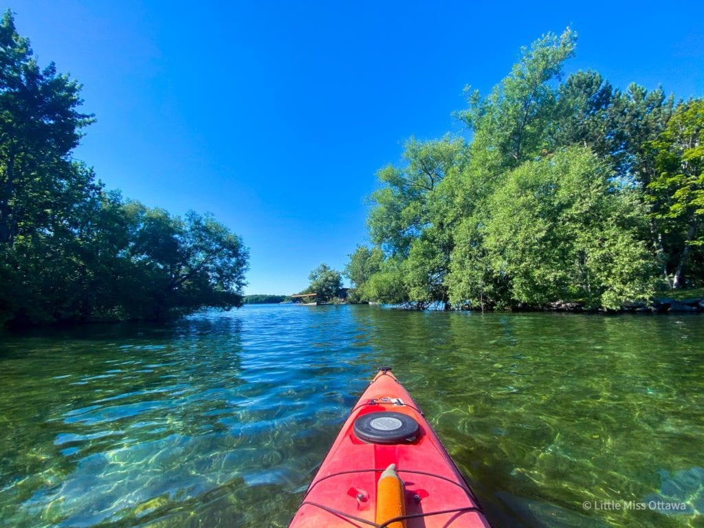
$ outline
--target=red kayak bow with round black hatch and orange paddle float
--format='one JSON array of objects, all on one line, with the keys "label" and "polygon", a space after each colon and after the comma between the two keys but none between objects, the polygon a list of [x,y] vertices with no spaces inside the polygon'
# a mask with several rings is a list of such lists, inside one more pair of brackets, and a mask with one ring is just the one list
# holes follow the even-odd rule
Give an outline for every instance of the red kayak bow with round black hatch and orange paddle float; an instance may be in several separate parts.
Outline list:
[{"label": "red kayak bow with round black hatch and orange paddle float", "polygon": [[490,528],[390,370],[379,370],[353,408],[289,528]]}]

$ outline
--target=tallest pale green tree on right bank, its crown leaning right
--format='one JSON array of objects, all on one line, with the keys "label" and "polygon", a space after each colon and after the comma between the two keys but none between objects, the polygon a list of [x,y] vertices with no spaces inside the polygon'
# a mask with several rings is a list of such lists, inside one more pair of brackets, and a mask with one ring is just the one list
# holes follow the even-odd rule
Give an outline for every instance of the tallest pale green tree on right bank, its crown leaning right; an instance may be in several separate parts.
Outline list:
[{"label": "tallest pale green tree on right bank, its crown leaning right", "polygon": [[[455,218],[450,270],[444,278],[457,303],[508,306],[508,282],[493,267],[487,253],[485,226],[490,221],[491,196],[501,189],[510,170],[548,154],[556,134],[551,124],[567,113],[558,106],[562,65],[574,54],[577,35],[569,28],[560,36],[548,33],[529,48],[488,97],[474,91],[469,107],[458,117],[472,131],[469,163],[450,180]],[[553,137],[551,137],[553,134]],[[567,132],[565,132],[567,134]]]}]

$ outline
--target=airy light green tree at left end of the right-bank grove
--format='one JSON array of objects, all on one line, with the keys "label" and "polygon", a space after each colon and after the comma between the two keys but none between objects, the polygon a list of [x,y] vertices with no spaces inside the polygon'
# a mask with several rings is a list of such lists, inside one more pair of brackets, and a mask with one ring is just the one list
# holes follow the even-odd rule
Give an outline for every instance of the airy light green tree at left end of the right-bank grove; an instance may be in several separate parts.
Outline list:
[{"label": "airy light green tree at left end of the right-bank grove", "polygon": [[[456,187],[448,180],[457,177],[465,153],[462,139],[410,139],[403,153],[405,163],[379,171],[383,187],[371,196],[374,208],[367,225],[372,242],[394,265],[379,270],[382,275],[373,281],[375,286],[363,289],[365,296],[389,300],[405,291],[408,298],[403,300],[446,300],[442,277],[449,267],[451,227],[458,220],[452,203]],[[400,272],[399,266],[405,271]],[[389,277],[396,276],[403,277],[403,287],[389,288]]]}]

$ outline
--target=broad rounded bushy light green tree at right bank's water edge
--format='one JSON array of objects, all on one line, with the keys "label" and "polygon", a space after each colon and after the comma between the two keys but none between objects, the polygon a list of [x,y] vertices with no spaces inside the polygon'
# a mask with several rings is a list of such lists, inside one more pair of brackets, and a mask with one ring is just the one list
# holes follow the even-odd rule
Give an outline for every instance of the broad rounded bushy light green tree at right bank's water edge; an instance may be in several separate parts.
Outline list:
[{"label": "broad rounded bushy light green tree at right bank's water edge", "polygon": [[[645,210],[632,189],[612,188],[611,175],[584,148],[510,172],[482,227],[486,261],[508,285],[503,301],[542,306],[579,299],[618,308],[650,294]],[[475,295],[461,286],[460,279],[451,289],[458,301]]]}]

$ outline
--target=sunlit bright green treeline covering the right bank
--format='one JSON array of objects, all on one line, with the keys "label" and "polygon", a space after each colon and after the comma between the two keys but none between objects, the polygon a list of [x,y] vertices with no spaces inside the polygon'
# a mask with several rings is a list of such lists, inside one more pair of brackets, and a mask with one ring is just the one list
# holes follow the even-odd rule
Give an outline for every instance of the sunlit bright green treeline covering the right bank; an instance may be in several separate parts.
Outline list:
[{"label": "sunlit bright green treeline covering the right bank", "polygon": [[470,141],[406,143],[378,172],[346,275],[370,301],[619,308],[704,279],[704,101],[562,76],[547,34],[456,116]]}]

